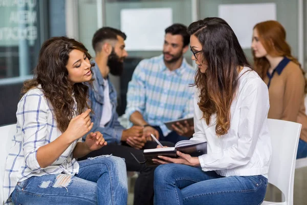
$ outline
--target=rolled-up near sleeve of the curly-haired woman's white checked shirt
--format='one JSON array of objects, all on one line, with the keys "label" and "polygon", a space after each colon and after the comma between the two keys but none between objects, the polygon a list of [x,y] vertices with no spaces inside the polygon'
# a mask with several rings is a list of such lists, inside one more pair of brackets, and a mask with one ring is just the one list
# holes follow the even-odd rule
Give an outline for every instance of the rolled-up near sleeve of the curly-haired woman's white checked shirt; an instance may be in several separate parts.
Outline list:
[{"label": "rolled-up near sleeve of the curly-haired woman's white checked shirt", "polygon": [[26,165],[33,172],[40,172],[36,153],[39,147],[50,143],[47,121],[47,101],[41,94],[27,94],[18,105],[17,119],[23,135]]}]

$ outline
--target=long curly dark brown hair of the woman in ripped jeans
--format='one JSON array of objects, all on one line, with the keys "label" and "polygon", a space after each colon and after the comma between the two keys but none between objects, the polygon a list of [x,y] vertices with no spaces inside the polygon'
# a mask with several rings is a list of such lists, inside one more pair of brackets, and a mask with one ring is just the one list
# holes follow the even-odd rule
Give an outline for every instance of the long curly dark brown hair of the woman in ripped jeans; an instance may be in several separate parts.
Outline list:
[{"label": "long curly dark brown hair of the woman in ripped jeans", "polygon": [[[89,88],[83,83],[72,84],[68,79],[66,68],[69,53],[74,50],[85,52],[87,58],[91,55],[83,44],[73,38],[52,37],[41,46],[38,64],[34,70],[34,78],[24,83],[21,94],[41,85],[41,90],[54,109],[57,127],[64,132],[74,113],[74,97],[77,103],[77,112],[80,114],[89,109],[87,92]],[[92,64],[92,67],[94,65]],[[90,83],[91,84],[91,83]]]}]

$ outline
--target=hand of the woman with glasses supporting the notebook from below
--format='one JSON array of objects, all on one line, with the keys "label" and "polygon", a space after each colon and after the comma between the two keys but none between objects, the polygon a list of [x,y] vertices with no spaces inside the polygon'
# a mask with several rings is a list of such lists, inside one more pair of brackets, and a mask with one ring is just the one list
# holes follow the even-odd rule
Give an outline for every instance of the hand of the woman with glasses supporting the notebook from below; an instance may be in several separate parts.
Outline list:
[{"label": "hand of the woman with glasses supporting the notebook from below", "polygon": [[198,157],[191,157],[189,154],[184,154],[177,151],[178,158],[171,158],[166,156],[158,156],[159,159],[151,159],[153,162],[163,165],[165,163],[181,163],[182,165],[188,165],[192,167],[200,166],[200,160]]}]

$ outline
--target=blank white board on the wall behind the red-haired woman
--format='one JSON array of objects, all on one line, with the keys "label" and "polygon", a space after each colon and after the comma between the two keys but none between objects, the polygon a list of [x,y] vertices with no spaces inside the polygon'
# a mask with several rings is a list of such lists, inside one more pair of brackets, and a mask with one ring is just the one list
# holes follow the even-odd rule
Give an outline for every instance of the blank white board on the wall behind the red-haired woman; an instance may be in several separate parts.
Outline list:
[{"label": "blank white board on the wall behind the red-haired woman", "polygon": [[276,4],[222,4],[218,5],[218,17],[230,25],[242,48],[251,48],[254,26],[276,20]]}]

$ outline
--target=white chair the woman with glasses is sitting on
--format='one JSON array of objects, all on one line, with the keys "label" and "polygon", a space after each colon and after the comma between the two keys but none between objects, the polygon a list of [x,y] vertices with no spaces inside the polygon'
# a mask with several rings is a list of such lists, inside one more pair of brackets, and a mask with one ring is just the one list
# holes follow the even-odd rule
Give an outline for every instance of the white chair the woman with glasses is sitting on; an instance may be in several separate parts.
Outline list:
[{"label": "white chair the woman with glasses is sitting on", "polygon": [[268,126],[272,141],[269,183],[284,194],[284,202],[264,201],[261,204],[293,205],[296,152],[302,125],[296,122],[268,119]]}]

